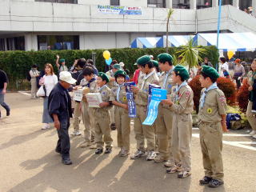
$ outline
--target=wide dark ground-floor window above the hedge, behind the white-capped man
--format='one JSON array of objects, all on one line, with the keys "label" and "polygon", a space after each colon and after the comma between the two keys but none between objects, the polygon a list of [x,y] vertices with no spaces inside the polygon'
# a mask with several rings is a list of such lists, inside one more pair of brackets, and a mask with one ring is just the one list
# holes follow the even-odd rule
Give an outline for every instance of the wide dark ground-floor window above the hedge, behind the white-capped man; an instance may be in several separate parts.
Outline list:
[{"label": "wide dark ground-floor window above the hedge, behind the white-capped man", "polygon": [[38,50],[79,50],[79,36],[38,35]]}]

